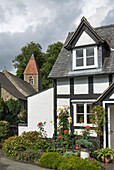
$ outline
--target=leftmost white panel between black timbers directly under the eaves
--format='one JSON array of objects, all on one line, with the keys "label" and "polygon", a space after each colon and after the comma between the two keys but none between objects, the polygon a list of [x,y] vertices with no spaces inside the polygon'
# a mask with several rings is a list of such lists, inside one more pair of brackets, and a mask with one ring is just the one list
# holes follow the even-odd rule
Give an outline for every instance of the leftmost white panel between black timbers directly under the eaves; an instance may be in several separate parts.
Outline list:
[{"label": "leftmost white panel between black timbers directly under the eaves", "polygon": [[68,78],[57,80],[57,94],[70,94],[70,80]]}]

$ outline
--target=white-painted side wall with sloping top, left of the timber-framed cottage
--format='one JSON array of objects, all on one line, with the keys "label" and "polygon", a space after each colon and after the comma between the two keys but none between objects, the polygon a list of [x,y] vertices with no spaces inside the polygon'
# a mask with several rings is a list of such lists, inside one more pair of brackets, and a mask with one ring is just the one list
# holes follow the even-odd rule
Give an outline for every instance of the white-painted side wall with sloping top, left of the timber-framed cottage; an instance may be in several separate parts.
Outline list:
[{"label": "white-painted side wall with sloping top, left of the timber-framed cottage", "polygon": [[47,137],[52,137],[54,133],[53,123],[53,88],[45,90],[41,93],[28,97],[28,127],[19,126],[19,135],[23,131],[37,130],[37,124],[39,122],[47,122],[45,125],[45,131],[47,131]]}]

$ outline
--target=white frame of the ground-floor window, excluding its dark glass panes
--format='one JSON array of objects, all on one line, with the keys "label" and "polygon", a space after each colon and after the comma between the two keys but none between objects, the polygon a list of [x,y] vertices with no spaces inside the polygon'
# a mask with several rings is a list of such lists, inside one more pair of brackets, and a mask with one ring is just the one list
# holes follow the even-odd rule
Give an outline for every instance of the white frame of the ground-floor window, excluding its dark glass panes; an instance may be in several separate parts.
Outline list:
[{"label": "white frame of the ground-floor window, excluding its dark glass panes", "polygon": [[[77,113],[76,113],[76,107],[77,107],[77,104],[83,104],[84,105],[84,123],[77,123]],[[90,124],[88,123],[87,124],[87,104],[92,104],[92,103],[81,103],[81,102],[77,102],[77,103],[73,103],[73,114],[74,114],[74,126],[90,126],[90,127],[93,127],[93,124]]]}]

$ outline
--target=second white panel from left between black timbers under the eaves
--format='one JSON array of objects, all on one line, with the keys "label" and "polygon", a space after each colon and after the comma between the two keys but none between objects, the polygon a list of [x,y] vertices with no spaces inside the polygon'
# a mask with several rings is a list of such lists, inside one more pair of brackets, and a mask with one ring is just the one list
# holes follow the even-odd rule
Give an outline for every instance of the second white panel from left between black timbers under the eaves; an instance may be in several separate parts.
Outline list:
[{"label": "second white panel from left between black timbers under the eaves", "polygon": [[88,94],[87,77],[80,77],[74,79],[74,94]]}]

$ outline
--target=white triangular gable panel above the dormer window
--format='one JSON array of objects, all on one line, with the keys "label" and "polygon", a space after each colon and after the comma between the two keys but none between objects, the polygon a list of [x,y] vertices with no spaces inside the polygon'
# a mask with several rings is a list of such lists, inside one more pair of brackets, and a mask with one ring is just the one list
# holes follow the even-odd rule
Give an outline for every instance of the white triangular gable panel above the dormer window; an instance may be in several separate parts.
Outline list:
[{"label": "white triangular gable panel above the dormer window", "polygon": [[96,42],[84,31],[77,41],[75,47],[77,46],[85,46],[89,44],[95,44]]}]

